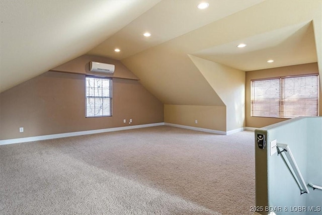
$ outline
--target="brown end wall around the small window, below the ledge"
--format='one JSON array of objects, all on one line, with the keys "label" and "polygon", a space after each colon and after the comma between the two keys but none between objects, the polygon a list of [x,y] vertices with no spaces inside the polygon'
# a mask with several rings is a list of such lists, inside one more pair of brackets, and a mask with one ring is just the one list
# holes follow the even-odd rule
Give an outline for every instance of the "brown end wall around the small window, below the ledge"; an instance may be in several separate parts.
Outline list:
[{"label": "brown end wall around the small window, below the ledge", "polygon": [[[85,117],[85,75],[48,71],[0,94],[0,139],[164,121],[163,103],[138,81],[113,78],[113,116]],[[127,123],[123,123],[123,119]],[[19,132],[24,127],[24,132]]]}]

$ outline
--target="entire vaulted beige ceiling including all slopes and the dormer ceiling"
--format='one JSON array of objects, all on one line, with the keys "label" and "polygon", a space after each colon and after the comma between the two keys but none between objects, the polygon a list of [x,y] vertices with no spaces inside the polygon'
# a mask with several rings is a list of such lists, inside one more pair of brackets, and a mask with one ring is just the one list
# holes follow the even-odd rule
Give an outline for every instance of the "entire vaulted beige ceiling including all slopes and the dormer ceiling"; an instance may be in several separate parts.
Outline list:
[{"label": "entire vaulted beige ceiling including all slopes and the dormer ceiling", "polygon": [[322,73],[321,1],[200,2],[1,0],[0,90],[83,54],[121,60],[165,104],[221,104],[191,56],[243,71],[318,62]]}]

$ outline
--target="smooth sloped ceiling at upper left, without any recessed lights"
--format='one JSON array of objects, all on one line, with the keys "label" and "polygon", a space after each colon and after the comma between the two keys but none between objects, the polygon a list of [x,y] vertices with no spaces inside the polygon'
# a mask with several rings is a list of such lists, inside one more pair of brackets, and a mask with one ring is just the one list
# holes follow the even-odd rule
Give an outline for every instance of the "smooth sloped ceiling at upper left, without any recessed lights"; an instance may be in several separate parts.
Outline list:
[{"label": "smooth sloped ceiling at upper left, without any recessed lights", "polygon": [[81,56],[159,1],[0,2],[0,92]]}]

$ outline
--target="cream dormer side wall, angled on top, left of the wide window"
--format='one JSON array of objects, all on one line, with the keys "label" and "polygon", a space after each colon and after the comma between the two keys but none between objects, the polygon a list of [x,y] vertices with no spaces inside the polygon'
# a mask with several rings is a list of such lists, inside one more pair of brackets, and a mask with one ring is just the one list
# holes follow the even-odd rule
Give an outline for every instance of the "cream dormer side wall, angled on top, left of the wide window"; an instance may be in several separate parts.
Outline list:
[{"label": "cream dormer side wall, angled on top, left of the wide window", "polygon": [[226,105],[226,131],[245,126],[245,71],[189,55]]}]

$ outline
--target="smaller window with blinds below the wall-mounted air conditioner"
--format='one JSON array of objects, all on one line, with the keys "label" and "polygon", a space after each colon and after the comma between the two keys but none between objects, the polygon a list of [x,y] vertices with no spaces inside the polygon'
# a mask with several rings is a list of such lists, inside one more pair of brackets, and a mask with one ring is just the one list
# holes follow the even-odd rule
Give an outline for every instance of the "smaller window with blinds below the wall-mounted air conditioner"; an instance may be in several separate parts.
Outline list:
[{"label": "smaller window with blinds below the wall-mounted air conditioner", "polygon": [[86,117],[112,116],[112,79],[86,77]]}]

